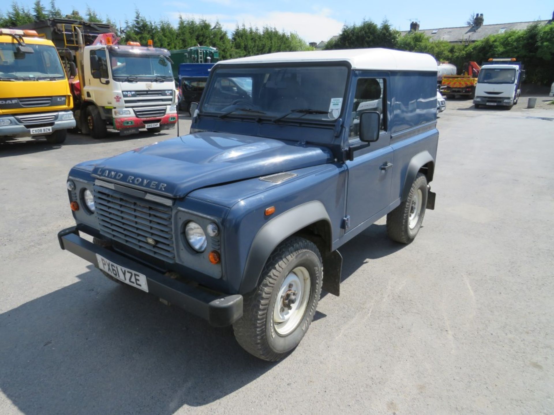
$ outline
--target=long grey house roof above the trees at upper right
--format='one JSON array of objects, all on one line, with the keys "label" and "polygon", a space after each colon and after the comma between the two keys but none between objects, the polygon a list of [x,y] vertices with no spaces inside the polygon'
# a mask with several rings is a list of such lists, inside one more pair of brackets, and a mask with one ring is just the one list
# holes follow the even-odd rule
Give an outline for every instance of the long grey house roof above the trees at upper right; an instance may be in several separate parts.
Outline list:
[{"label": "long grey house roof above the trees at upper right", "polygon": [[[552,20],[536,20],[535,22],[516,22],[501,24],[484,24],[482,26],[461,26],[439,29],[418,30],[419,33],[425,33],[431,40],[446,40],[447,42],[475,42],[487,36],[504,33],[509,30],[525,30],[531,24],[545,25]],[[409,30],[403,30],[401,35],[410,33]]]}]

